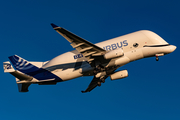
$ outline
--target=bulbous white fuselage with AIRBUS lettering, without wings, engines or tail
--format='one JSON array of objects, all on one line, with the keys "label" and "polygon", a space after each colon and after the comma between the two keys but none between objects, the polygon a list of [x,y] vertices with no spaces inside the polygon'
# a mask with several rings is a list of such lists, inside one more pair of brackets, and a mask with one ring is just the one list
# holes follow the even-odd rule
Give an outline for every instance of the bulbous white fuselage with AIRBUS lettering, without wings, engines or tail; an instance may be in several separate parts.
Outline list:
[{"label": "bulbous white fuselage with AIRBUS lettering, without wings, engines or tail", "polygon": [[[168,54],[176,49],[175,46],[168,45],[157,34],[147,30],[120,36],[95,45],[106,51],[123,49],[124,55],[111,59],[104,64],[105,67],[120,67],[145,57]],[[88,72],[86,75],[93,75],[91,72],[93,68],[86,61],[86,58],[82,54],[74,50],[55,57],[45,64],[43,68],[51,71],[63,81],[66,81],[83,76],[85,72]]]}]

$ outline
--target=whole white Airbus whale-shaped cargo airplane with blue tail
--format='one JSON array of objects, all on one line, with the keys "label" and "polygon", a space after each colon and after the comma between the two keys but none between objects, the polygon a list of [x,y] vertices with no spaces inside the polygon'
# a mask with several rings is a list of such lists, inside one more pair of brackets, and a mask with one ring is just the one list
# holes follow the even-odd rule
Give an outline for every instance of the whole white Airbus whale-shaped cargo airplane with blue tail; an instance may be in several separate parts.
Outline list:
[{"label": "whole white Airbus whale-shaped cargo airplane with blue tail", "polygon": [[93,76],[85,91],[90,92],[105,79],[123,79],[128,77],[127,70],[117,69],[127,63],[142,58],[172,53],[176,46],[170,45],[156,33],[140,30],[117,38],[93,44],[68,30],[51,24],[75,49],[61,54],[50,61],[30,62],[18,55],[3,62],[4,72],[16,78],[19,92],[28,92],[31,84],[55,85],[82,76]]}]

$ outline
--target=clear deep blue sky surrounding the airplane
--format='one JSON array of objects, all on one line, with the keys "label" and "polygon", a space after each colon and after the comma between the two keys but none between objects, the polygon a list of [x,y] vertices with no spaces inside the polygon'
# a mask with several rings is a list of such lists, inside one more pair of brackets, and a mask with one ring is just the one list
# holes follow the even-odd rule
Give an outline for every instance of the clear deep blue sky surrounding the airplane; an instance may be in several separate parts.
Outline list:
[{"label": "clear deep blue sky surrounding the airplane", "polygon": [[177,49],[159,62],[142,59],[123,66],[129,77],[82,94],[92,77],[55,86],[31,85],[19,93],[1,69],[1,120],[180,120],[179,0],[3,0],[0,1],[0,62],[17,54],[47,61],[73,50],[55,23],[97,43],[151,30]]}]

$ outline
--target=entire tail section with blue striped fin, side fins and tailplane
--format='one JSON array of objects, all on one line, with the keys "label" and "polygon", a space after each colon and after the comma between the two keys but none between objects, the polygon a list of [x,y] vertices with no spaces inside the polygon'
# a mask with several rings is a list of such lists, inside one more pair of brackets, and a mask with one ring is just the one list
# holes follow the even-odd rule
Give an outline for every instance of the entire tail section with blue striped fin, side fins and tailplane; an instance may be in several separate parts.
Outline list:
[{"label": "entire tail section with blue striped fin, side fins and tailplane", "polygon": [[27,60],[17,55],[10,56],[9,60],[17,71],[14,70],[10,62],[3,63],[4,71],[9,72],[14,77],[16,77],[16,83],[18,84],[19,92],[28,92],[28,87],[31,85],[31,81],[34,78],[35,80],[39,81],[54,80],[54,83],[62,81],[58,76],[51,73],[50,71],[43,69],[41,67],[37,67],[34,64],[32,64],[33,62],[28,62]]}]

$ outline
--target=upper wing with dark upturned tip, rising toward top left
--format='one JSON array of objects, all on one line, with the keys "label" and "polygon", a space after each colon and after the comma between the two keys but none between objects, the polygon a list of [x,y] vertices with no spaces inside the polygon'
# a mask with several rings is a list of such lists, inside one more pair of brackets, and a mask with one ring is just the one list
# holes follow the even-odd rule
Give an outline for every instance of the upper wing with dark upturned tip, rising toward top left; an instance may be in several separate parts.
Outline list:
[{"label": "upper wing with dark upturned tip, rising toward top left", "polygon": [[87,40],[67,31],[62,27],[58,27],[55,24],[51,26],[56,30],[60,35],[62,35],[66,40],[71,43],[71,46],[75,48],[79,53],[81,53],[89,63],[94,60],[94,56],[100,56],[106,53],[106,50],[90,43]]}]

